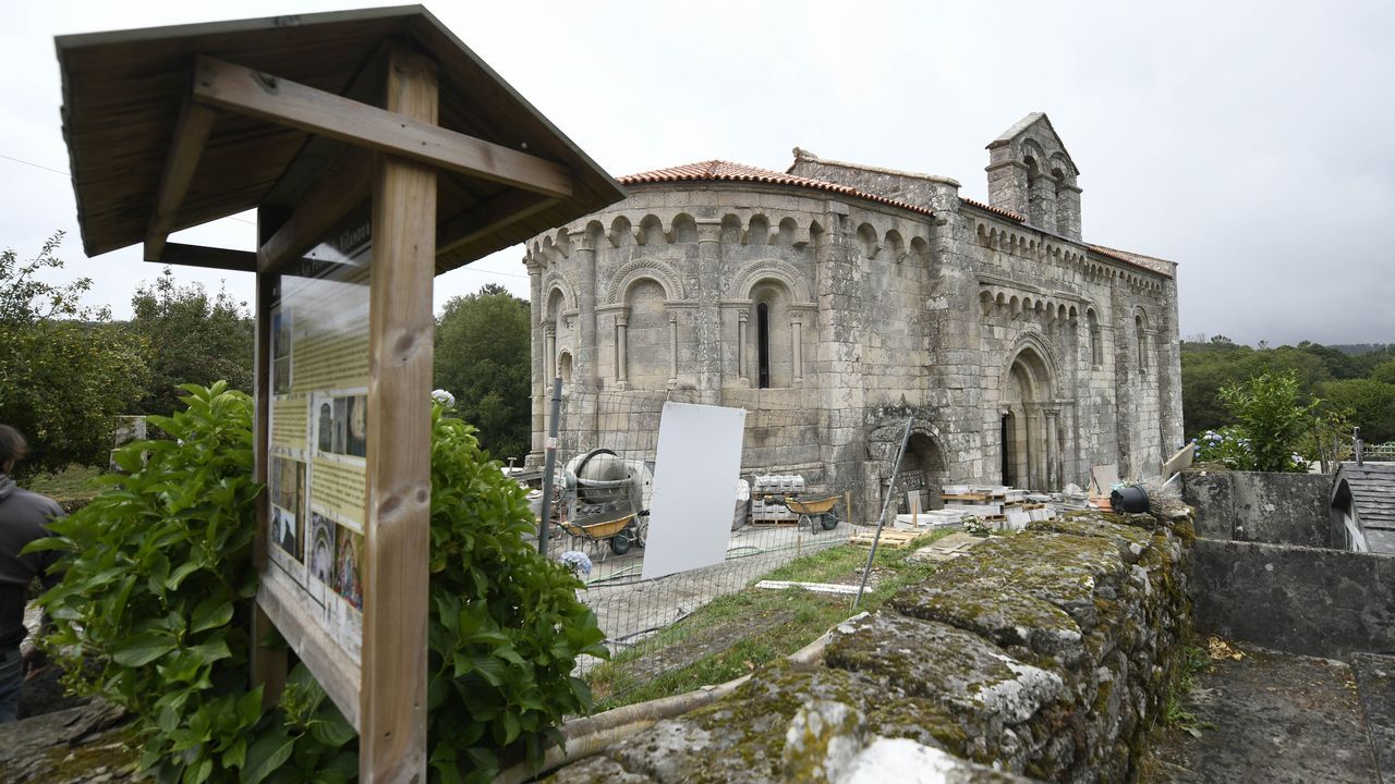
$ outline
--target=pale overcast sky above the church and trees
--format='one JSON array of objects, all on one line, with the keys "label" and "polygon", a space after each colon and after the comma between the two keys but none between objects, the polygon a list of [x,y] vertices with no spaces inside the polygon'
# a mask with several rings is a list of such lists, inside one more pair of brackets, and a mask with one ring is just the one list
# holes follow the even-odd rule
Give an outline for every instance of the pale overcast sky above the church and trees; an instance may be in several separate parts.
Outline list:
[{"label": "pale overcast sky above the church and trees", "polygon": [[[86,258],[53,36],[342,10],[319,3],[14,3],[0,29],[0,247],[66,230],[89,301],[130,315],[156,265]],[[1081,170],[1087,241],[1179,262],[1182,333],[1395,342],[1392,3],[428,4],[611,174],[721,158],[928,172],[986,199],[983,145],[1046,112]],[[183,233],[254,247],[250,215]],[[437,279],[502,283],[522,250]],[[176,268],[251,300],[251,275]]]}]

